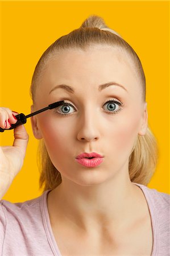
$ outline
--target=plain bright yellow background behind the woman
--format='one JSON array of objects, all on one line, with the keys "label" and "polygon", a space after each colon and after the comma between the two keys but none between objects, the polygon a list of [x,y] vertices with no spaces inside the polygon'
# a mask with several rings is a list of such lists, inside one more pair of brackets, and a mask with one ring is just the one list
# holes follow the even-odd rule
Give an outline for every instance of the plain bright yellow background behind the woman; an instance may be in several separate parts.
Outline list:
[{"label": "plain bright yellow background behind the woman", "polygon": [[[91,14],[102,16],[134,48],[146,75],[148,123],[159,144],[159,162],[149,188],[169,193],[169,2],[1,1],[1,106],[29,114],[32,75],[42,53]],[[41,195],[36,164],[38,141],[28,119],[30,141],[24,165],[3,199],[26,201]],[[13,130],[0,134],[13,144]]]}]

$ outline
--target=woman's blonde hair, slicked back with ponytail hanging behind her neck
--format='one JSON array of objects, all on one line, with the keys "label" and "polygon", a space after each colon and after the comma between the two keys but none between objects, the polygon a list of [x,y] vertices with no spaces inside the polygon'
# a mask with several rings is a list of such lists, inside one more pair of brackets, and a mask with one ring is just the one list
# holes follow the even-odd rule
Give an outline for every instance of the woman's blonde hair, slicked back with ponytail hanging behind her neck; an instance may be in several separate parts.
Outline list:
[{"label": "woman's blonde hair, slicked back with ponytail hanging behind her neck", "polygon": [[[86,49],[91,46],[105,45],[121,50],[124,55],[130,58],[136,75],[139,77],[142,91],[142,100],[146,100],[146,79],[142,64],[134,49],[114,30],[107,27],[103,19],[96,15],[91,15],[80,26],[68,35],[61,36],[51,46],[49,46],[40,57],[35,67],[32,77],[30,93],[33,103],[35,102],[38,79],[42,74],[43,68],[48,64],[48,60],[55,56],[55,53],[64,49]],[[132,148],[128,170],[130,180],[134,183],[147,185],[155,172],[157,164],[157,142],[149,127],[145,135],[138,134],[136,143]],[[61,182],[60,172],[53,166],[49,158],[43,139],[38,148],[39,168],[40,168],[40,188],[43,191],[56,188]]]}]

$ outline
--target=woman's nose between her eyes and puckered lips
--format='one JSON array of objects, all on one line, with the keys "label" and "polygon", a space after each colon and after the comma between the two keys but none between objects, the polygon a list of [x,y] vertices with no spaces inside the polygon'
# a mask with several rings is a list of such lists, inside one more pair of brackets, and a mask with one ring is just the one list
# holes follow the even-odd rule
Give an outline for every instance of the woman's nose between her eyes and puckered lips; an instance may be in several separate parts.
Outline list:
[{"label": "woman's nose between her eyes and puckered lips", "polygon": [[89,110],[78,120],[77,139],[79,141],[97,141],[99,139],[99,119],[97,113]]}]

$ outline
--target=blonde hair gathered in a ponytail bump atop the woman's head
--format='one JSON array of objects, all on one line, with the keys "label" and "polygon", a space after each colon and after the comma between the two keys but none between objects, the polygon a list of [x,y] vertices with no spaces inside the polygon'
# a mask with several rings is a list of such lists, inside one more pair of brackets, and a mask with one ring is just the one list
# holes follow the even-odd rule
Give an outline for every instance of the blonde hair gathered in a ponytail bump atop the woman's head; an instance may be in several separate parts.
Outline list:
[{"label": "blonde hair gathered in a ponytail bump atop the woman's head", "polygon": [[115,35],[118,35],[120,38],[122,38],[121,35],[119,35],[116,31],[111,30],[111,28],[107,27],[105,21],[103,18],[97,15],[90,15],[87,19],[84,20],[84,22],[81,24],[82,28],[91,27],[91,28],[99,28],[99,30],[103,31],[109,31]]}]

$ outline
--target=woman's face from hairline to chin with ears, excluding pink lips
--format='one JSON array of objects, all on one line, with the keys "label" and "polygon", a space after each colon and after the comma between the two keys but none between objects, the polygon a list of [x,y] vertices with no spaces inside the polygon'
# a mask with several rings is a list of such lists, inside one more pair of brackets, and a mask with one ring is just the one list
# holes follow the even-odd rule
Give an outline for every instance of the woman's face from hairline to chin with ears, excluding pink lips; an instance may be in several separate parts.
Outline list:
[{"label": "woman's face from hairline to chin with ears, excluding pink lips", "polygon": [[[32,118],[34,135],[44,138],[62,179],[94,185],[127,171],[136,138],[147,129],[146,103],[130,60],[104,46],[61,52],[42,73],[34,110],[62,100],[72,106]],[[103,162],[84,167],[75,160],[82,152],[97,152]]]}]

